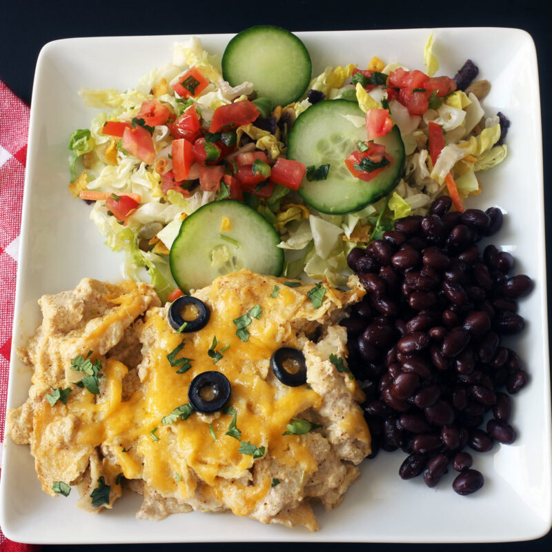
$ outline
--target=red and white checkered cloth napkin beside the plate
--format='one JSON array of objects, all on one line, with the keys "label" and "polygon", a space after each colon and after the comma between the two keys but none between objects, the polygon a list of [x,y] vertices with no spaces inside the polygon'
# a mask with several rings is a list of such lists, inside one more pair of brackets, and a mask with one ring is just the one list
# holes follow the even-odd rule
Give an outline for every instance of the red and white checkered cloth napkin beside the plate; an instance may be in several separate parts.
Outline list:
[{"label": "red and white checkered cloth napkin beside the plate", "polygon": [[[29,106],[0,81],[0,458],[12,348],[15,275],[28,130]],[[6,539],[0,529],[2,552],[34,552],[39,549],[39,546]]]}]

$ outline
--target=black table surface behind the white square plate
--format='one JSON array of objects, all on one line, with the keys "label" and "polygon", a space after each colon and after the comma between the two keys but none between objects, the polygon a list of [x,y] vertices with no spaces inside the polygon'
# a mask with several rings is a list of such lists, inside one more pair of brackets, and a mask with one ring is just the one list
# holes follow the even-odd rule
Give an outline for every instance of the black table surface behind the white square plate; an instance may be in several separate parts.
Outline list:
[{"label": "black table surface behind the white square plate", "polygon": [[[34,66],[41,47],[49,41],[70,37],[97,37],[144,34],[201,34],[213,32],[239,32],[244,28],[270,23],[300,30],[355,30],[392,28],[437,28],[437,27],[513,27],[528,31],[536,44],[540,70],[542,121],[549,121],[548,92],[551,78],[549,68],[552,56],[549,50],[550,7],[534,0],[513,3],[500,0],[460,0],[435,2],[425,0],[347,0],[327,2],[324,0],[277,0],[263,2],[244,1],[186,1],[152,0],[132,1],[14,1],[3,2],[0,10],[0,79],[12,90],[30,102]],[[83,60],[86,63],[86,60]],[[516,75],[512,75],[516,79]],[[547,101],[548,99],[548,101]],[[544,175],[551,168],[549,150],[551,135],[544,125]],[[544,190],[546,217],[552,208],[549,191]],[[528,221],[529,224],[529,221]],[[551,224],[546,224],[546,257],[550,258],[552,240]],[[549,280],[550,283],[550,280]],[[549,313],[551,309],[549,308]],[[552,327],[552,324],[549,326]],[[458,520],[462,524],[462,520]],[[501,520],[497,517],[496,524]],[[397,518],[397,524],[400,520]],[[469,531],[469,527],[466,527]],[[339,549],[353,552],[370,547],[372,552],[389,551],[437,551],[445,545],[433,544],[188,544],[188,549],[198,552],[262,550],[273,552],[286,548],[295,551],[330,551]],[[44,552],[72,551],[73,549],[105,551],[149,551],[152,549],[176,551],[182,544],[166,545],[113,545],[113,546],[44,546]],[[532,542],[503,544],[447,544],[451,552],[462,549],[477,549],[483,552],[544,551],[552,547],[552,533]]]}]

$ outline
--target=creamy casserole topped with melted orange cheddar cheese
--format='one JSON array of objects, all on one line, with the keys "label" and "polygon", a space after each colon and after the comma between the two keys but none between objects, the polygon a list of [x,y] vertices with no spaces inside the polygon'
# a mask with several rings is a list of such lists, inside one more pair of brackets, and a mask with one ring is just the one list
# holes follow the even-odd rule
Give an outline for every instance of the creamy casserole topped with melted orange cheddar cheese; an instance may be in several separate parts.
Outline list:
[{"label": "creamy casserole topped with melted orange cheddar cheese", "polygon": [[[133,284],[134,292],[126,289],[121,297],[111,293],[109,302],[119,308],[97,309],[93,319],[83,322],[88,329],[73,331],[71,351],[86,355],[92,343],[97,347],[106,342],[103,333],[112,335],[118,325],[125,346],[113,343],[101,354],[92,348],[103,366],[99,395],[75,388],[66,405],[57,402],[53,407],[44,396],[49,386],[65,387],[82,374],[58,367],[56,384],[50,383],[50,368],[43,366],[51,366],[44,340],[51,342],[52,336],[44,328],[56,332],[45,318],[23,352],[34,365],[34,389],[28,402],[9,417],[12,438],[31,444],[43,489],[53,494],[55,481],[79,483],[80,505],[95,511],[99,508],[92,506],[90,493],[99,477],[111,486],[110,504],[101,507],[110,507],[121,493],[116,481],[122,474],[126,480],[141,480],[139,488],[134,485],[144,495],[139,517],[230,510],[264,523],[317,529],[311,500],[326,509],[337,506],[359,475],[356,464],[370,453],[368,427],[357,404],[363,393],[351,373],[337,371],[329,360],[331,353],[346,357],[346,332],[336,322],[364,291],[356,280],[346,293],[326,286],[324,302],[315,308],[307,295],[312,285],[290,288],[284,282],[248,270],[217,278],[194,293],[210,308],[208,324],[184,334],[170,327],[166,308],[154,300],[137,308],[144,289]],[[66,299],[70,310],[69,296]],[[244,342],[233,320],[256,305],[262,314],[252,319]],[[216,363],[208,355],[215,337],[217,351],[224,351]],[[133,361],[128,351],[136,343],[141,357]],[[191,359],[191,368],[177,373],[167,355],[182,343],[177,358]],[[270,355],[281,346],[304,351],[307,385],[288,387],[273,375]],[[59,362],[70,363],[70,358],[61,355]],[[233,412],[194,412],[186,420],[161,422],[188,403],[193,378],[212,370],[224,373],[232,386],[228,404],[236,413],[239,439],[226,434]],[[59,379],[69,372],[71,379]],[[282,435],[294,417],[321,427],[304,435]],[[257,446],[261,457],[240,453],[242,442]]]}]

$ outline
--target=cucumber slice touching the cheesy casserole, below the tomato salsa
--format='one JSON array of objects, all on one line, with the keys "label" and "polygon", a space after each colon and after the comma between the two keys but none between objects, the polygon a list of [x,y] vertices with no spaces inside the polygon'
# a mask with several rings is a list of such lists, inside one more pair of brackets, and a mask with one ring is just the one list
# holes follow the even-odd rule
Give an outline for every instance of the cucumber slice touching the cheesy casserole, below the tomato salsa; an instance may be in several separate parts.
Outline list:
[{"label": "cucumber slice touching the cheesy casserole, below the tomato salsa", "polygon": [[241,268],[279,276],[284,267],[279,242],[275,228],[257,211],[234,199],[213,201],[182,222],[170,248],[170,272],[185,291]]}]

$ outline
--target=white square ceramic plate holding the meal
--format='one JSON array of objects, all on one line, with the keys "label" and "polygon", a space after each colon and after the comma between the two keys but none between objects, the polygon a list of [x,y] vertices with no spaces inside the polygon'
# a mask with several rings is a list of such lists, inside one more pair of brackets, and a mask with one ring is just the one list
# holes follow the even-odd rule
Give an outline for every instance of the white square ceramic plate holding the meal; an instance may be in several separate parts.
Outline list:
[{"label": "white square ceramic plate holding the meal", "polygon": [[[431,30],[299,32],[313,58],[313,75],[326,66],[358,63],[373,55],[423,70],[424,44]],[[506,213],[495,243],[513,252],[517,273],[535,280],[520,303],[526,330],[509,342],[531,374],[515,397],[511,446],[475,454],[485,476],[481,491],[460,497],[449,473],[435,489],[421,478],[397,475],[404,453],[380,453],[362,464],[339,508],[319,511],[321,529],[265,526],[231,514],[188,513],[162,522],[135,519],[139,497],[117,501],[115,509],[90,515],[75,508],[77,492],[53,500],[43,493],[27,446],[5,445],[0,523],[16,541],[37,543],[132,542],[493,542],[528,540],[551,526],[551,422],[546,318],[546,261],[542,141],[537,61],[529,34],[503,28],[451,28],[435,31],[440,75],[454,75],[467,58],[492,83],[486,112],[502,110],[511,119],[509,156],[481,175],[483,193],[472,207],[497,205]],[[8,407],[27,397],[30,373],[14,354],[40,323],[37,299],[73,288],[81,277],[121,278],[121,257],[103,246],[90,208],[68,193],[68,137],[88,127],[95,110],[83,106],[82,87],[126,90],[151,68],[172,59],[181,36],[68,39],[49,43],[39,56],[32,96],[30,141],[23,203],[21,259],[17,280],[14,347]],[[206,50],[221,55],[229,34],[201,36]]]}]

